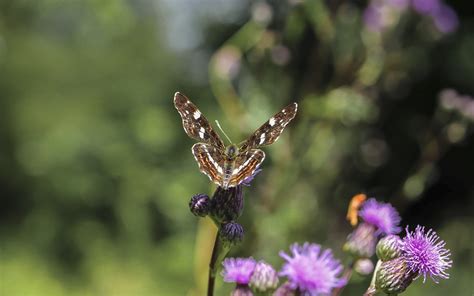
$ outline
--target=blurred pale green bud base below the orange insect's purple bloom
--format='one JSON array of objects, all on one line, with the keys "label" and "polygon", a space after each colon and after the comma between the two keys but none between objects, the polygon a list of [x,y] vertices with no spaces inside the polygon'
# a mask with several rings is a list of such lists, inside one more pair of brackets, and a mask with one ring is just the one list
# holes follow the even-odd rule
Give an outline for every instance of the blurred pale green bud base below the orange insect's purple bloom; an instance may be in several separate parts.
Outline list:
[{"label": "blurred pale green bud base below the orange insect's purple bloom", "polygon": [[372,257],[377,243],[376,230],[376,227],[371,224],[359,224],[347,237],[343,250],[356,258]]}]

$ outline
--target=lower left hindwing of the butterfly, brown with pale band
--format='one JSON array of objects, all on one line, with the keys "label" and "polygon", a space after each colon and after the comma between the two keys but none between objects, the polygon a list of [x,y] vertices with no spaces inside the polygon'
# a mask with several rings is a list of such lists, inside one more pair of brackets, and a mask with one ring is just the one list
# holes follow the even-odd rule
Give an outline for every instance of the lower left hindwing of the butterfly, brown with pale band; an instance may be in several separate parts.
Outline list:
[{"label": "lower left hindwing of the butterfly, brown with pale band", "polygon": [[222,152],[218,148],[205,143],[194,144],[192,151],[201,172],[206,174],[212,182],[220,186],[225,165],[225,158]]}]

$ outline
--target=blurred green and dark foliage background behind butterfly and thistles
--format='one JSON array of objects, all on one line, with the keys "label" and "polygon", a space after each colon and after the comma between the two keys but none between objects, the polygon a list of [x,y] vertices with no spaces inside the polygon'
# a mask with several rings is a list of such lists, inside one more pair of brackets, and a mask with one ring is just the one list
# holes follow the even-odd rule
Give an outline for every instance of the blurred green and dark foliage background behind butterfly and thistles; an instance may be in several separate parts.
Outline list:
[{"label": "blurred green and dark foliage background behind butterfly and thistles", "polygon": [[346,261],[366,192],[452,250],[451,279],[404,295],[472,295],[474,14],[421,2],[0,1],[0,294],[204,294],[215,227],[188,202],[213,187],[180,91],[235,142],[300,105],[231,256],[279,268],[311,241]]}]

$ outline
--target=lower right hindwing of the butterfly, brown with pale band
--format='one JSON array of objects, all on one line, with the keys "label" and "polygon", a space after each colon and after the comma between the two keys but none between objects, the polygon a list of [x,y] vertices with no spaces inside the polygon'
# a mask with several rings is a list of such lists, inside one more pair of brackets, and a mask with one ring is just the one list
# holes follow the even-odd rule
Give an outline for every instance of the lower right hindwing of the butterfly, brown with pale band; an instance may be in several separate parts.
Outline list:
[{"label": "lower right hindwing of the butterfly, brown with pale band", "polygon": [[234,187],[242,183],[246,178],[252,176],[255,170],[265,159],[265,152],[260,149],[250,149],[240,153],[235,159],[234,170],[228,184],[224,187]]}]

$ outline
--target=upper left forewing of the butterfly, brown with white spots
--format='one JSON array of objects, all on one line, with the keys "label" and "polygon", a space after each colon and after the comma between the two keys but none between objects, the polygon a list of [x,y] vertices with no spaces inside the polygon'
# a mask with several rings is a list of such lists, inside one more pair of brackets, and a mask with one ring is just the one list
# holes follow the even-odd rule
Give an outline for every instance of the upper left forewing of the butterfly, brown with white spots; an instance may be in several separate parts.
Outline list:
[{"label": "upper left forewing of the butterfly, brown with white spots", "polygon": [[209,121],[185,95],[174,94],[174,106],[183,120],[183,128],[191,138],[225,149],[219,135],[212,129]]}]

